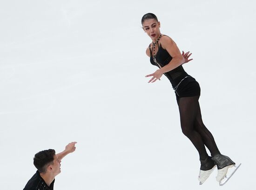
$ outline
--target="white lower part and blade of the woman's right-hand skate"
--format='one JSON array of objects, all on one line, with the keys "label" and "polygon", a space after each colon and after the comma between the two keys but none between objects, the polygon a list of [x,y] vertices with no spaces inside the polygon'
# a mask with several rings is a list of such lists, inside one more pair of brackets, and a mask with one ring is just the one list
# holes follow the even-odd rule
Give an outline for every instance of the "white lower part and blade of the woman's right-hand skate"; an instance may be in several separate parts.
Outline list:
[{"label": "white lower part and blade of the woman's right-hand skate", "polygon": [[218,175],[216,177],[217,182],[219,182],[220,186],[227,183],[230,177],[236,172],[236,170],[239,168],[241,164],[238,166],[234,165],[228,165],[220,170],[218,170]]}]

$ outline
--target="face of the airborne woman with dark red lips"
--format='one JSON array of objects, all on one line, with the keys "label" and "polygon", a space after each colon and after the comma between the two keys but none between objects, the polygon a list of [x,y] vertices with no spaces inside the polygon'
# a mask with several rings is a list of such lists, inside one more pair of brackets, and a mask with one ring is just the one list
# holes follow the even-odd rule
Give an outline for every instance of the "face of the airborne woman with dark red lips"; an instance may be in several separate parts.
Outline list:
[{"label": "face of the airborne woman with dark red lips", "polygon": [[161,32],[160,32],[160,22],[157,22],[156,19],[147,19],[144,20],[143,30],[148,34],[148,36],[154,40],[157,39]]}]

